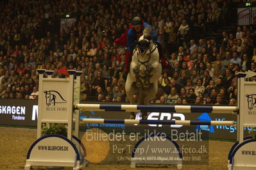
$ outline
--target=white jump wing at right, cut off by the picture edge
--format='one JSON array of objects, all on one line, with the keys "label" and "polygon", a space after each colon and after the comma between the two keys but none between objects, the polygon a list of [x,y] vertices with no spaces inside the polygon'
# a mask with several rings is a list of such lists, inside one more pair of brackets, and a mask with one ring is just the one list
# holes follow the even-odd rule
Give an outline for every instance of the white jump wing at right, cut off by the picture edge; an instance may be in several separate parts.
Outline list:
[{"label": "white jump wing at right, cut off by the picture edge", "polygon": [[256,169],[256,139],[244,137],[244,127],[256,127],[256,82],[246,81],[256,73],[237,73],[237,143],[228,153],[228,169]]}]

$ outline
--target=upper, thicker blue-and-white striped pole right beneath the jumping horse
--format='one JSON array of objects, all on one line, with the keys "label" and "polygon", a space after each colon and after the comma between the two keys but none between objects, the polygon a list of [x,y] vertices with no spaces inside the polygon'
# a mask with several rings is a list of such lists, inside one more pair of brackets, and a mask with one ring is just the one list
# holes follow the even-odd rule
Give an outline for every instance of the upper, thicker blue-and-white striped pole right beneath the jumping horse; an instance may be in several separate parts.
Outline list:
[{"label": "upper, thicker blue-and-white striped pole right beneath the jumping horse", "polygon": [[126,112],[208,112],[237,114],[237,106],[212,105],[108,105],[75,104],[76,109],[85,111],[126,111]]}]

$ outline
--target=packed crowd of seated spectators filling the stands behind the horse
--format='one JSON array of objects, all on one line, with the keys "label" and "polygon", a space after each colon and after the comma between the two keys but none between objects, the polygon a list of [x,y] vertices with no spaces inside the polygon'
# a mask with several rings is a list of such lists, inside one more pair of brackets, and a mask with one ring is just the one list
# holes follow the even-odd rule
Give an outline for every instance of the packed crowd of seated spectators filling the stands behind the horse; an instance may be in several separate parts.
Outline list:
[{"label": "packed crowd of seated spectators filling the stands behind the horse", "polygon": [[[126,47],[114,40],[141,16],[153,26],[169,65],[151,103],[235,105],[235,73],[256,72],[256,19],[250,26],[205,33],[232,22],[230,0],[1,1],[0,97],[37,99],[38,68],[83,71],[81,100],[129,102],[123,75]],[[76,19],[71,26],[60,20]],[[235,22],[235,20],[233,20]],[[252,81],[255,81],[252,78]],[[137,94],[133,95],[137,99]]]}]

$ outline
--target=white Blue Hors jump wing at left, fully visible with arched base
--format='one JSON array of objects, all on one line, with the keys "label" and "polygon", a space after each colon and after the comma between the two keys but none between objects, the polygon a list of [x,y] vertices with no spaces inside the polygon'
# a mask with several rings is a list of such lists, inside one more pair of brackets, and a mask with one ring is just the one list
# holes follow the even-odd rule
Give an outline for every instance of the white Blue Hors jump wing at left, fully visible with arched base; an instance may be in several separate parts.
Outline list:
[{"label": "white Blue Hors jump wing at left, fully visible with arched base", "polygon": [[[85,150],[78,139],[79,114],[75,111],[73,115],[73,101],[80,101],[82,72],[68,70],[67,79],[51,78],[53,71],[37,70],[37,72],[39,73],[37,140],[28,151],[24,169],[30,169],[31,166],[66,166],[76,170],[81,169],[86,164]],[[44,73],[47,74],[47,78],[44,78]],[[75,121],[74,134],[77,137],[73,135],[73,121]],[[42,123],[65,123],[67,137],[42,136]]]}]

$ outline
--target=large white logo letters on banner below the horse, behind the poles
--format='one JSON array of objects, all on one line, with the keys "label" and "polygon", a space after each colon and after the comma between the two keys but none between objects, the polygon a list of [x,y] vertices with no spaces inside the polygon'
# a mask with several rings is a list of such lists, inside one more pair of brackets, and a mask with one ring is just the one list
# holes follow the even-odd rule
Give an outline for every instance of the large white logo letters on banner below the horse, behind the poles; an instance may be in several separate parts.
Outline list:
[{"label": "large white logo letters on banner below the horse, behind the poles", "polygon": [[[138,112],[135,120],[141,120],[141,112]],[[185,120],[185,115],[182,113],[169,112],[151,112],[148,115],[148,120]],[[162,127],[162,125],[149,124],[150,127]],[[180,128],[183,125],[170,125],[172,128]]]}]

